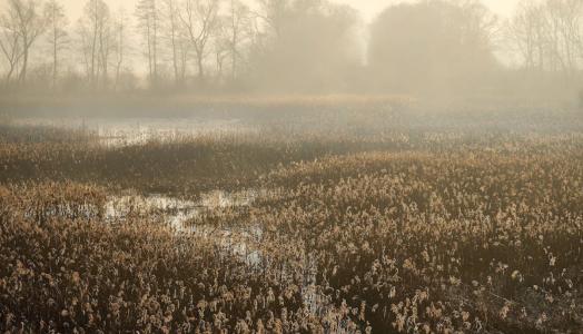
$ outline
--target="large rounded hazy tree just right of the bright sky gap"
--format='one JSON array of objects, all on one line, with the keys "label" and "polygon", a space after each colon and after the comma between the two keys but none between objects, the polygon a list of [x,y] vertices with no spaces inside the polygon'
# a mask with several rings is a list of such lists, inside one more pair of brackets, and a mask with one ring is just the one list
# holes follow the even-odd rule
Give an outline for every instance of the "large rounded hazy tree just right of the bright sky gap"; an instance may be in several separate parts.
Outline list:
[{"label": "large rounded hazy tree just right of the bright sky gap", "polygon": [[373,80],[379,88],[407,92],[484,82],[497,67],[496,27],[495,17],[475,0],[389,7],[370,28]]}]

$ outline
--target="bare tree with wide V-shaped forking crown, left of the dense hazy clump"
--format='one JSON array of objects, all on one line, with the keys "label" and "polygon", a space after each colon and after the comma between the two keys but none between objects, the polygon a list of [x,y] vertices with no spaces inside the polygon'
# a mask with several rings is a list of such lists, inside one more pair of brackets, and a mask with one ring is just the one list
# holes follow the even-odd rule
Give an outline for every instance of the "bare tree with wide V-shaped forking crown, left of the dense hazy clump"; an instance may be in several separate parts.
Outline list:
[{"label": "bare tree with wide V-shaped forking crown, left of the dense hazy clump", "polygon": [[205,79],[206,48],[216,28],[219,0],[186,0],[184,6],[178,17],[195,49],[198,77],[202,81]]}]

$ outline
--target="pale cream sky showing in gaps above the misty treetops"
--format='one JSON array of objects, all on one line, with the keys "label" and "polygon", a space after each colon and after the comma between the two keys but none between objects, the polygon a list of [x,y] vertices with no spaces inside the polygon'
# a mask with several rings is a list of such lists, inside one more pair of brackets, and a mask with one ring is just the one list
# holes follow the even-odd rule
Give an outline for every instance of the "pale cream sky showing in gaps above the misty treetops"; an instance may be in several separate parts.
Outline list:
[{"label": "pale cream sky showing in gaps above the misty treetops", "polygon": [[[81,16],[85,0],[61,0],[69,11],[71,21],[77,21]],[[332,0],[333,2],[346,3],[358,9],[365,21],[370,21],[381,10],[393,3],[407,2],[412,0]],[[117,10],[123,7],[128,13],[132,13],[137,0],[106,0],[111,7],[111,10]],[[507,17],[513,11],[518,0],[482,0],[493,12]]]}]

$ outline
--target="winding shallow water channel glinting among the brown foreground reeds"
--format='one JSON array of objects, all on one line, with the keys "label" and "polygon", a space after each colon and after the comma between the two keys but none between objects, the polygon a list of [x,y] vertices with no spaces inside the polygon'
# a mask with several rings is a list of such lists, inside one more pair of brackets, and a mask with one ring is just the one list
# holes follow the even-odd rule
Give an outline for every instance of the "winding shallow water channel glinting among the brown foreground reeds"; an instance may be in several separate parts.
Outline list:
[{"label": "winding shallow water channel glinting among the brown foreground reeds", "polygon": [[[303,240],[286,242],[273,239],[274,230],[263,224],[268,222],[237,222],[238,213],[245,212],[254,204],[265,198],[271,198],[276,190],[249,189],[241,191],[215,190],[201,195],[198,199],[181,199],[161,194],[147,196],[137,193],[111,195],[101,207],[95,204],[63,203],[45,206],[42,219],[49,217],[66,217],[70,219],[90,219],[106,224],[123,224],[130,219],[147,219],[171,227],[176,235],[175,247],[180,248],[187,243],[200,243],[216,249],[216,255],[223,258],[245,263],[250,271],[257,273],[275,273],[280,282],[297,284],[302,301],[307,312],[313,315],[325,315],[334,312],[332,299],[317,282],[318,263],[314,254],[307,253]],[[229,224],[216,224],[217,215],[231,215]],[[38,210],[23,212],[31,219],[39,219]],[[210,217],[210,218],[209,218]],[[233,218],[233,219],[231,219]],[[221,219],[218,219],[221,220]],[[240,223],[240,224],[239,224]],[[276,232],[277,234],[277,232]],[[297,249],[299,257],[280,257],[273,254],[273,248],[265,247],[276,243],[278,246]],[[284,244],[283,244],[284,243]],[[297,246],[297,247],[296,247]],[[266,250],[269,249],[269,250]],[[279,256],[279,257],[278,257]]]}]

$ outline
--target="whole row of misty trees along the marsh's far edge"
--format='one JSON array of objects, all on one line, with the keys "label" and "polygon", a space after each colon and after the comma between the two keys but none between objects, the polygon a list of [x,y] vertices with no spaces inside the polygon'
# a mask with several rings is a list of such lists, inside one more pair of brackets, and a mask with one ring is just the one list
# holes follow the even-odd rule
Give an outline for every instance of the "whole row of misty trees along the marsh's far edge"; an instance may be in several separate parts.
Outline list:
[{"label": "whole row of misty trees along the marsh's far edge", "polygon": [[87,0],[73,22],[59,0],[0,10],[4,91],[408,92],[508,71],[576,81],[583,66],[583,0],[524,0],[507,20],[477,0],[394,4],[367,38],[355,9],[327,0]]}]

